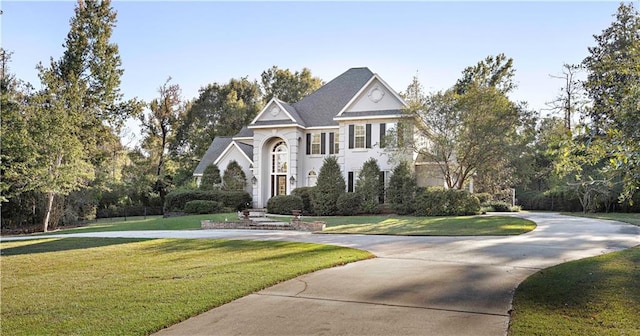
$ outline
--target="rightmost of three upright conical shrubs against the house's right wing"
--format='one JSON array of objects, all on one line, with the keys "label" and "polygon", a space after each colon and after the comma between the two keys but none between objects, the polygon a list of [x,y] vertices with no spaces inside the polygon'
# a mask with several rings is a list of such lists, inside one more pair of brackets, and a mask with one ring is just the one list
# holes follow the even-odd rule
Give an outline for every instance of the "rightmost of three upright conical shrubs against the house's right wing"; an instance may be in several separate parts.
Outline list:
[{"label": "rightmost of three upright conical shrubs against the house's right wing", "polygon": [[416,179],[411,172],[409,163],[401,162],[393,169],[387,188],[387,202],[391,211],[399,215],[413,213],[413,199],[415,197]]}]

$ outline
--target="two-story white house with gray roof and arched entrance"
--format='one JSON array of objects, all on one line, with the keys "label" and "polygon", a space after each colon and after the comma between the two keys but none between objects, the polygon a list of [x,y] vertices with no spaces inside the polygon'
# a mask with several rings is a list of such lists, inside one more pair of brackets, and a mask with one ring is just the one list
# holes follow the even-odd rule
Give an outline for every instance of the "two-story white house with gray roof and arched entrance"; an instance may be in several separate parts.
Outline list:
[{"label": "two-story white house with gray roof and arched entrance", "polygon": [[369,158],[385,178],[393,170],[384,140],[405,106],[380,76],[352,68],[297,103],[269,101],[237,135],[215,138],[193,175],[199,183],[209,164],[223,172],[235,160],[247,176],[253,206],[262,208],[272,196],[314,186],[324,158],[333,155],[353,191]]}]

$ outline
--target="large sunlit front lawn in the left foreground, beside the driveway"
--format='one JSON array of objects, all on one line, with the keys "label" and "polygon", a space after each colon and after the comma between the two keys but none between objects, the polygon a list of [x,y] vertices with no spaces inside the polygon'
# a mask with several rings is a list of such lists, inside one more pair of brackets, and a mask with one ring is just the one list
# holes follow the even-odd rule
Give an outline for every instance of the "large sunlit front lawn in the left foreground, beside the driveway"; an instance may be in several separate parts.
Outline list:
[{"label": "large sunlit front lawn in the left foreground, beside the driveway", "polygon": [[2,331],[145,335],[298,275],[372,257],[308,243],[64,238],[0,243]]}]

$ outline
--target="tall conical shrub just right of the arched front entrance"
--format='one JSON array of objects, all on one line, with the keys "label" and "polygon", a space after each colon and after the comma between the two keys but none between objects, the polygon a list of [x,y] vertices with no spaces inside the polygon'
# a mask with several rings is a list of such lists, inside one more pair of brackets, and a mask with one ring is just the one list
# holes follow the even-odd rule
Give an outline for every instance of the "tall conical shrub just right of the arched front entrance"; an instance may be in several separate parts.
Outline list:
[{"label": "tall conical shrub just right of the arched front entrance", "polygon": [[346,183],[340,172],[338,159],[328,156],[324,159],[318,183],[313,195],[313,209],[316,215],[332,216],[338,214],[338,198],[345,193]]}]

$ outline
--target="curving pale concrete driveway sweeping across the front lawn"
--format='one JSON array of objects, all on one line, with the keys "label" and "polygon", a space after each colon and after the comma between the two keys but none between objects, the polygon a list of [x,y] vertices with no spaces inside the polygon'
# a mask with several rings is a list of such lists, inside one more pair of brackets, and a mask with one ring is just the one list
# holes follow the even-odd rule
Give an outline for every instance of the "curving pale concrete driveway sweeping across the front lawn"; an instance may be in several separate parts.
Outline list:
[{"label": "curving pale concrete driveway sweeping across the front lawn", "polygon": [[[237,230],[74,236],[233,238],[335,244],[378,258],[303,275],[157,335],[504,335],[517,285],[569,260],[640,244],[640,227],[524,213],[538,227],[509,237],[394,237]],[[68,236],[68,235],[66,235]]]}]

